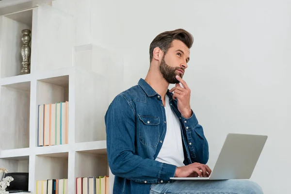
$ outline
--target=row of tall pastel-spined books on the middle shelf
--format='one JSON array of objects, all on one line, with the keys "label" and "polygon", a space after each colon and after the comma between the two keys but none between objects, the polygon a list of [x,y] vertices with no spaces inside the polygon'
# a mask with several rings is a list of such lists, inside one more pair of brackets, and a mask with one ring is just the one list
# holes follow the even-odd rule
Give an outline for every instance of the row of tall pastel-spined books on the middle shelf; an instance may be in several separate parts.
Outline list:
[{"label": "row of tall pastel-spined books on the middle shelf", "polygon": [[68,105],[68,101],[38,105],[37,146],[68,143]]}]

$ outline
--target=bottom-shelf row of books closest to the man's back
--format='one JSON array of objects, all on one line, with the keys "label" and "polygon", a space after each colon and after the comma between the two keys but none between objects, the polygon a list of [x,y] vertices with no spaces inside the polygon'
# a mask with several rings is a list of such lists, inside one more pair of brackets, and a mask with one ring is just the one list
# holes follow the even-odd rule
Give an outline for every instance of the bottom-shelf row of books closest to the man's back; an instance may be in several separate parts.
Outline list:
[{"label": "bottom-shelf row of books closest to the man's back", "polygon": [[109,176],[76,178],[76,194],[109,194]]}]

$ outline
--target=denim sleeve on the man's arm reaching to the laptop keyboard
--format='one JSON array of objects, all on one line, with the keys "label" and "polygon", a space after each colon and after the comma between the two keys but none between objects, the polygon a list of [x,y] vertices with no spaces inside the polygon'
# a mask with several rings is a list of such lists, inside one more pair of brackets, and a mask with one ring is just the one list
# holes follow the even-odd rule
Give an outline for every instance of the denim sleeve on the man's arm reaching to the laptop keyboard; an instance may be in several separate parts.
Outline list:
[{"label": "denim sleeve on the man's arm reaching to the laptop keyboard", "polygon": [[113,175],[143,183],[170,181],[177,166],[135,155],[136,119],[128,101],[118,95],[106,114],[107,154]]}]

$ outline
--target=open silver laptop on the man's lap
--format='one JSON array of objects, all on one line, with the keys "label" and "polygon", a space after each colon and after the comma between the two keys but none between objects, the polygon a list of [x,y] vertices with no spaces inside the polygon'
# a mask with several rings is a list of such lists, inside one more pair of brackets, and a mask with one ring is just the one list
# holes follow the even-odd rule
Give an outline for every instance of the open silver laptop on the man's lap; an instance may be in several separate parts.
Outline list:
[{"label": "open silver laptop on the man's lap", "polygon": [[267,141],[266,135],[228,133],[209,177],[172,177],[174,180],[249,179]]}]

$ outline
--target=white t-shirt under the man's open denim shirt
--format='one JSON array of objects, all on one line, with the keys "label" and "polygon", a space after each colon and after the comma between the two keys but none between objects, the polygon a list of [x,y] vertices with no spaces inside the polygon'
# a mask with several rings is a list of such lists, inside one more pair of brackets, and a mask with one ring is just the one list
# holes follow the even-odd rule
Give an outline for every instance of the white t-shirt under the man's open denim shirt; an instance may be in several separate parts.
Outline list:
[{"label": "white t-shirt under the man's open denim shirt", "polygon": [[166,95],[165,113],[167,132],[162,144],[162,148],[157,156],[156,161],[173,164],[176,166],[184,166],[184,153],[181,137],[181,128],[178,117],[172,112],[169,97]]}]

